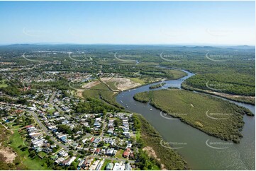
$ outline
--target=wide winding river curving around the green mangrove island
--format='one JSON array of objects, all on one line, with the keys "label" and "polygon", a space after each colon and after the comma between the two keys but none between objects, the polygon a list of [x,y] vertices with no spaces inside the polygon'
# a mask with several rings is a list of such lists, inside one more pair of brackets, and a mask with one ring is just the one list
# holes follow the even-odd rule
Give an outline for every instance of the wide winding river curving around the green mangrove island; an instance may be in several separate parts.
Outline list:
[{"label": "wide winding river curving around the green mangrove island", "polygon": [[[184,71],[184,70],[182,70]],[[184,71],[188,75],[178,80],[165,81],[165,86],[155,88],[160,90],[169,86],[181,88],[182,82],[193,76],[193,73]],[[244,116],[243,138],[239,144],[222,141],[219,138],[208,136],[199,129],[184,124],[161,113],[149,104],[133,100],[135,93],[150,91],[152,83],[129,91],[123,91],[116,96],[118,103],[130,112],[143,115],[152,126],[159,131],[162,138],[169,142],[193,170],[255,170],[255,117]],[[226,100],[226,99],[224,99]],[[123,103],[122,103],[122,102]],[[249,109],[255,114],[255,106],[228,100]]]}]

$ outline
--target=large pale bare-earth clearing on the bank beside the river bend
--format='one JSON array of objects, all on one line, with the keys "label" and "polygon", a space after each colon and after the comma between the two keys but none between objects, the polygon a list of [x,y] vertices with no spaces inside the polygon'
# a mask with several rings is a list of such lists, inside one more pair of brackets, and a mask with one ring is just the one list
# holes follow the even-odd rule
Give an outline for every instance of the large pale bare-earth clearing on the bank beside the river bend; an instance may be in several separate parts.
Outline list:
[{"label": "large pale bare-earth clearing on the bank beside the river bend", "polygon": [[104,81],[104,83],[108,83],[108,81],[116,82],[116,88],[121,91],[135,88],[141,85],[140,83],[134,83],[133,81],[130,81],[128,78],[104,77],[101,78],[101,81]]}]

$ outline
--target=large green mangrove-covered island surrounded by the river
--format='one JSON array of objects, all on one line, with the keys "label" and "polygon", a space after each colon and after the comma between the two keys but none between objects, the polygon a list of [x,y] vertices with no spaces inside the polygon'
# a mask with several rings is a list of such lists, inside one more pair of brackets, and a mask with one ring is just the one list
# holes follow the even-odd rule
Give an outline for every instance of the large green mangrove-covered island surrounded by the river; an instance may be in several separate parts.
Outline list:
[{"label": "large green mangrove-covered island surrounded by the river", "polygon": [[163,112],[178,117],[206,134],[239,143],[243,137],[243,114],[249,110],[225,100],[187,90],[156,90],[135,95],[135,100],[149,102]]}]

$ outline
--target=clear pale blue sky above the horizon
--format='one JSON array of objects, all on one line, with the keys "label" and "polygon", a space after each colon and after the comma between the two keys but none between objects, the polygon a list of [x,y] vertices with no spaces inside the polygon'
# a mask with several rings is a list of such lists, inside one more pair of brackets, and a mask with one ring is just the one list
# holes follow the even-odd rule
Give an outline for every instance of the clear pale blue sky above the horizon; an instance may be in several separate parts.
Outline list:
[{"label": "clear pale blue sky above the horizon", "polygon": [[255,45],[255,1],[0,1],[0,45]]}]

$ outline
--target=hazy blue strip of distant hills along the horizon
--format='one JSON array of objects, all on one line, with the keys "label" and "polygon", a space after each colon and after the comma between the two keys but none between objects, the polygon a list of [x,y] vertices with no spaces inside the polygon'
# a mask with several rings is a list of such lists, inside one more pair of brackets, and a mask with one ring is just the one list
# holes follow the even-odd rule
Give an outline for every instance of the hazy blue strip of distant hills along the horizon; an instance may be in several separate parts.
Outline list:
[{"label": "hazy blue strip of distant hills along the horizon", "polygon": [[21,43],[21,44],[12,44],[12,45],[0,45],[0,49],[13,49],[13,50],[77,50],[77,49],[105,49],[105,50],[135,50],[135,49],[157,49],[160,51],[167,51],[169,49],[176,49],[178,51],[183,50],[203,50],[203,51],[211,51],[218,49],[239,49],[239,50],[253,50],[255,47],[248,45],[240,45],[240,46],[199,46],[199,45],[75,45],[75,44],[43,44],[43,43]]}]

